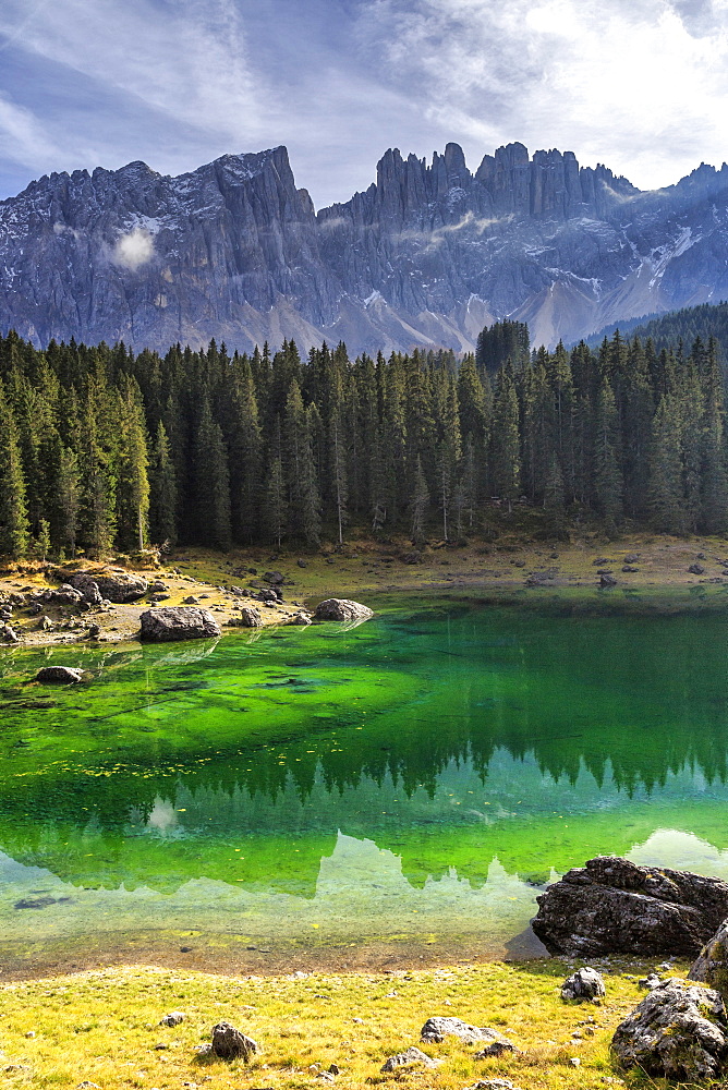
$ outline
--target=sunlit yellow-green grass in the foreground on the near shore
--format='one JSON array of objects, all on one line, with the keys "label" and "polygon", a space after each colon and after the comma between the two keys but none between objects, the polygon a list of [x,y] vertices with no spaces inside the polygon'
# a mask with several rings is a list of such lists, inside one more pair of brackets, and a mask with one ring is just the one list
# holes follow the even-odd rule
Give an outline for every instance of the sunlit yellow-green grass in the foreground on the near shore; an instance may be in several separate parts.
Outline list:
[{"label": "sunlit yellow-green grass in the foreground on the near shore", "polygon": [[[509,1078],[522,1088],[594,1088],[622,1078],[609,1041],[644,995],[636,978],[651,967],[600,964],[607,984],[600,1007],[561,1001],[560,983],[572,966],[555,960],[244,979],[120,968],[11,983],[0,988],[1,1081],[9,1088],[283,1090],[320,1086],[318,1071],[336,1064],[336,1085],[345,1088],[461,1090],[480,1078]],[[171,1010],[185,1020],[161,1027]],[[490,1026],[521,1054],[475,1061],[476,1046],[449,1038],[422,1046],[442,1059],[437,1069],[381,1075],[388,1056],[420,1045],[420,1029],[434,1015]],[[222,1019],[260,1046],[248,1066],[197,1055]]]}]

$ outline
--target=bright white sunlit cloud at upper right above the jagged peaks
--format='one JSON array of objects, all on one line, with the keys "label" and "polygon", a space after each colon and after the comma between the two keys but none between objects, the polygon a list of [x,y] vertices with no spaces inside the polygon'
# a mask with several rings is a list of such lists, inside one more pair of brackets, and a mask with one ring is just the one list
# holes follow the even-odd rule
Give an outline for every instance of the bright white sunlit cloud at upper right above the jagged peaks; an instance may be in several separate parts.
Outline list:
[{"label": "bright white sunlit cloud at upper right above the jagged peaks", "polygon": [[374,0],[359,33],[469,153],[572,149],[647,187],[728,148],[728,5],[699,7],[711,34],[668,0]]}]

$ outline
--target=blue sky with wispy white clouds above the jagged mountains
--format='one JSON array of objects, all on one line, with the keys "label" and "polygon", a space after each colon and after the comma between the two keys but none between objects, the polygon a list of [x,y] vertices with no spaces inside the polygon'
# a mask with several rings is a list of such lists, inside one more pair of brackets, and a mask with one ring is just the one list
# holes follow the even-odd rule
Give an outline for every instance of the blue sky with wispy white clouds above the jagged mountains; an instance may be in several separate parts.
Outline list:
[{"label": "blue sky with wispy white clouds above the jagged mountains", "polygon": [[520,141],[641,189],[728,158],[728,0],[2,0],[0,198],[286,144],[316,205],[388,147]]}]

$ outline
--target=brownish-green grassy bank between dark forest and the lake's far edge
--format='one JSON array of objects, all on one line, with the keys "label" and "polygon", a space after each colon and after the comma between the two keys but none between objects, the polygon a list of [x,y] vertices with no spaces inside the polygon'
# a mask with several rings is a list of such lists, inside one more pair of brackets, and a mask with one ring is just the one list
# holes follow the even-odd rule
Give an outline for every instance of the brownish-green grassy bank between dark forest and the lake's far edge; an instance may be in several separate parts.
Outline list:
[{"label": "brownish-green grassy bank between dark forest and the lake's far edge", "polygon": [[[715,596],[728,591],[728,542],[723,538],[677,538],[631,535],[619,541],[585,537],[569,543],[533,543],[518,534],[497,543],[468,545],[434,543],[414,549],[405,538],[387,543],[354,540],[316,553],[262,549],[225,555],[203,549],[179,550],[181,572],[210,583],[229,583],[234,572],[275,567],[287,579],[287,597],[318,601],[329,595],[367,596],[398,592],[464,591],[478,596],[523,601],[544,600],[549,593],[596,591],[599,572],[610,572],[617,585],[605,592],[617,600],[634,592],[645,601],[659,595]],[[688,569],[699,564],[704,571]],[[623,571],[623,568],[634,570]],[[537,585],[532,577],[536,577]],[[251,578],[255,582],[255,578]]]}]

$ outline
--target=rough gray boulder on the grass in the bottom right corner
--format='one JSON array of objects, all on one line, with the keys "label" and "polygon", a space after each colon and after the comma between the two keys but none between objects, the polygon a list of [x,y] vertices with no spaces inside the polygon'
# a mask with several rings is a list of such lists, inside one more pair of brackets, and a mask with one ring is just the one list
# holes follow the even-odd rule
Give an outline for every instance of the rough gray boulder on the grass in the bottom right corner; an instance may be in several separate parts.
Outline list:
[{"label": "rough gray boulder on the grass in the bottom right corner", "polygon": [[621,1022],[611,1041],[623,1067],[681,1082],[718,1078],[728,1057],[720,995],[678,977],[663,981]]}]

